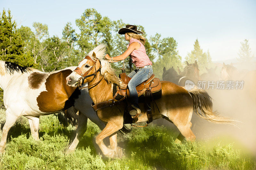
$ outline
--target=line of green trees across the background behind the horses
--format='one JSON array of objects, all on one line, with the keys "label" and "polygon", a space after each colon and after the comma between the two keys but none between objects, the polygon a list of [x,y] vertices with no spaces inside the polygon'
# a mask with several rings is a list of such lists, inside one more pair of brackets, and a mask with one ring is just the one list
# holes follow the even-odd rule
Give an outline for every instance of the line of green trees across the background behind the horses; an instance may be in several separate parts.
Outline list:
[{"label": "line of green trees across the background behind the horses", "polygon": [[[100,43],[108,45],[107,53],[110,56],[122,54],[128,42],[124,40],[124,35],[117,32],[125,25],[132,24],[124,23],[122,19],[111,20],[91,8],[86,9],[81,17],[76,19],[76,26],[80,33],[76,33],[71,23],[68,22],[62,30],[62,37],[49,36],[48,26],[39,22],[34,22],[33,28],[28,26],[17,28],[10,10],[7,14],[3,10],[0,21],[0,60],[18,63],[25,67],[34,67],[45,72],[77,65],[89,51]],[[181,61],[177,49],[178,43],[173,37],[162,37],[159,33],[148,36],[143,26],[137,26],[138,30],[144,32],[143,35],[147,40],[145,48],[153,62],[156,77],[162,78],[164,67],[167,69],[172,66],[183,68],[186,65]],[[250,50],[248,40],[241,45],[239,56],[242,60],[248,60],[247,56],[251,56],[250,51],[248,52]],[[189,63],[197,60],[201,73],[206,71],[205,67],[212,66],[209,50],[204,52],[198,39],[194,43],[194,49],[187,54],[185,59]],[[130,57],[111,64],[116,69],[116,73],[120,72],[119,68],[125,68],[128,73],[135,69]]]}]

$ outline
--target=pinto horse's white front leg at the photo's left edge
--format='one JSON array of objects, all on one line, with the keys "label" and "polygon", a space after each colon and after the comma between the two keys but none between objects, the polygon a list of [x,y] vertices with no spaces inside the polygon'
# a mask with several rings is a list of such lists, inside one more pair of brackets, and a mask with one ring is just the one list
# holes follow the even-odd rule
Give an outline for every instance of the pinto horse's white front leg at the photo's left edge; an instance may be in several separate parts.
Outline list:
[{"label": "pinto horse's white front leg at the photo's left edge", "polygon": [[17,116],[11,115],[9,113],[8,109],[6,110],[5,114],[6,114],[6,121],[4,123],[2,139],[1,139],[1,142],[0,142],[0,153],[4,153],[4,149],[6,147],[7,134],[9,132],[10,128],[13,126],[13,124],[18,119]]}]

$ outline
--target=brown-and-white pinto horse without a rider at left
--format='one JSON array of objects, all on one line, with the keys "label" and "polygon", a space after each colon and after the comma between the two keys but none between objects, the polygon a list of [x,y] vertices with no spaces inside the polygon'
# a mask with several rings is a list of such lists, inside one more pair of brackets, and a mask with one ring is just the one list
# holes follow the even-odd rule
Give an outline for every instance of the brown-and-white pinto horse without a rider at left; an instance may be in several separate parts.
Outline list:
[{"label": "brown-and-white pinto horse without a rider at left", "polygon": [[[87,118],[101,129],[105,124],[91,108],[92,100],[88,89],[66,85],[65,78],[76,67],[68,67],[53,72],[41,72],[33,68],[24,68],[15,63],[0,61],[0,85],[4,90],[6,122],[0,142],[0,153],[4,153],[9,129],[20,116],[28,118],[32,137],[39,140],[39,116],[60,112],[71,107],[79,110],[76,138],[68,148],[74,151],[79,138],[86,131]],[[74,107],[72,107],[74,106]]]}]

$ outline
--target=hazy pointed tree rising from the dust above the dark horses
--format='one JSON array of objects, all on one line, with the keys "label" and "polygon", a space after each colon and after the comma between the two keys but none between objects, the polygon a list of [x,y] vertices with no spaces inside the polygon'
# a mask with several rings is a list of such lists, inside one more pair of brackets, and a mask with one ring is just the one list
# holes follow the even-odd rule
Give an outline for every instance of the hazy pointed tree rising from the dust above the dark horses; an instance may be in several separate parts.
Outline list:
[{"label": "hazy pointed tree rising from the dust above the dark horses", "polygon": [[207,53],[203,52],[203,49],[201,49],[199,45],[198,39],[196,39],[194,44],[194,49],[188,53],[188,55],[185,57],[186,61],[188,63],[194,63],[195,60],[197,60],[198,67],[200,69],[200,72],[206,72],[205,67],[212,67],[212,58],[210,55],[209,50]]}]

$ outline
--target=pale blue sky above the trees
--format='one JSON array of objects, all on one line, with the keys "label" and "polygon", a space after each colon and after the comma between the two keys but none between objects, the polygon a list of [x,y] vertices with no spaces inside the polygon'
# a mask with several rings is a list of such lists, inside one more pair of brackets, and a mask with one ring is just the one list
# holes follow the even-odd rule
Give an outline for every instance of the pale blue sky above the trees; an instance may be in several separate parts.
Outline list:
[{"label": "pale blue sky above the trees", "polygon": [[[62,35],[67,22],[76,28],[75,20],[87,8],[95,8],[111,20],[140,24],[147,34],[160,33],[178,42],[184,60],[198,38],[203,51],[209,49],[213,61],[238,57],[240,42],[248,39],[256,57],[256,1],[18,1],[1,0],[10,9],[19,26],[32,28],[33,22],[47,24],[49,34]],[[78,30],[78,28],[76,28]],[[125,44],[124,44],[125,45]]]}]

